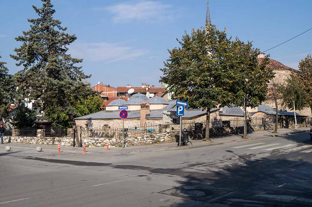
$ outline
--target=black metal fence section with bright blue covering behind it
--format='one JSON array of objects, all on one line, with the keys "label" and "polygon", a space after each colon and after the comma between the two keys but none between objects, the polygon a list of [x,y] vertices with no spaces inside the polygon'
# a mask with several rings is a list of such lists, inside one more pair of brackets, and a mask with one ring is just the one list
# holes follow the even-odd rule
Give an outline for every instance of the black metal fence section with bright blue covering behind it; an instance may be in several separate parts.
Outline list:
[{"label": "black metal fence section with bright blue covering behind it", "polygon": [[158,123],[144,123],[142,125],[135,125],[133,127],[127,128],[127,136],[134,137],[145,134],[159,133],[159,126],[160,124]]}]

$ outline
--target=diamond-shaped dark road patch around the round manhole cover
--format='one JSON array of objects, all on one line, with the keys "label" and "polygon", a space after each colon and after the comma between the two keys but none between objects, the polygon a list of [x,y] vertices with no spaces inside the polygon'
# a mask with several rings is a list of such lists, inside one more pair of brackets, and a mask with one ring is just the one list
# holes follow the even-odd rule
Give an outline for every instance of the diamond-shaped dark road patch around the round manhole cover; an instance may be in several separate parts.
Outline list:
[{"label": "diamond-shaped dark road patch around the round manhole cover", "polygon": [[159,192],[161,194],[172,195],[188,200],[196,200],[196,201],[209,201],[215,198],[218,198],[222,195],[226,195],[230,193],[228,190],[222,190],[219,188],[212,188],[208,186],[201,185],[182,185],[179,187],[171,188],[168,190],[164,190]]}]

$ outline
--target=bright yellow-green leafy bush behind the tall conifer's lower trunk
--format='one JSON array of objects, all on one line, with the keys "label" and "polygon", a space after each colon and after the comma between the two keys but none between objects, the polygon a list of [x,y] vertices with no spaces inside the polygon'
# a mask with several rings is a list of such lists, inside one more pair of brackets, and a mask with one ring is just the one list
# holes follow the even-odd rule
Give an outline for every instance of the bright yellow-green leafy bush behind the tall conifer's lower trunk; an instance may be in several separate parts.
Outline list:
[{"label": "bright yellow-green leafy bush behind the tall conifer's lower trunk", "polygon": [[[101,111],[102,106],[103,106],[103,100],[101,99],[99,95],[90,95],[85,99],[82,98],[74,106],[74,111],[76,113],[74,118]],[[68,115],[66,114],[66,112],[51,113],[46,116],[46,119],[64,127],[68,127],[68,128],[72,127],[71,121],[68,118]]]}]

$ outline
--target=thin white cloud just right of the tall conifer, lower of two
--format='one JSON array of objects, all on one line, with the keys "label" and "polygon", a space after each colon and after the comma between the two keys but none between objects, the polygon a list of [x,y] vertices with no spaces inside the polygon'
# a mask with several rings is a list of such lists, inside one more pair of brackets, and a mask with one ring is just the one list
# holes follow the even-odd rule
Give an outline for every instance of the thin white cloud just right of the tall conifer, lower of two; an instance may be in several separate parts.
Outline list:
[{"label": "thin white cloud just right of the tall conifer, lower of two", "polygon": [[118,61],[134,59],[148,53],[146,50],[136,50],[127,46],[99,42],[99,43],[74,43],[69,47],[69,53],[76,58],[91,61]]}]

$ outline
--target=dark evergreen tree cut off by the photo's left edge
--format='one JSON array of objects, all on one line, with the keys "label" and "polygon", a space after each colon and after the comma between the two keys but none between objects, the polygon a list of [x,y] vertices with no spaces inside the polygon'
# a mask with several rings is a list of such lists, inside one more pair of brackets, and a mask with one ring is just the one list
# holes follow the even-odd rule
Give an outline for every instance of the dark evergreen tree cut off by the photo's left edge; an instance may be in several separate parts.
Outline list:
[{"label": "dark evergreen tree cut off by the photo's left edge", "polygon": [[[0,56],[1,58],[1,56]],[[8,108],[18,100],[16,86],[12,75],[8,74],[5,62],[0,62],[0,122],[8,117]]]}]

